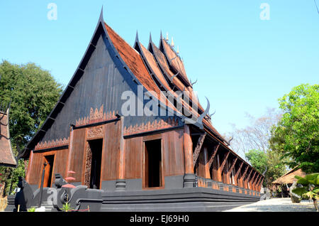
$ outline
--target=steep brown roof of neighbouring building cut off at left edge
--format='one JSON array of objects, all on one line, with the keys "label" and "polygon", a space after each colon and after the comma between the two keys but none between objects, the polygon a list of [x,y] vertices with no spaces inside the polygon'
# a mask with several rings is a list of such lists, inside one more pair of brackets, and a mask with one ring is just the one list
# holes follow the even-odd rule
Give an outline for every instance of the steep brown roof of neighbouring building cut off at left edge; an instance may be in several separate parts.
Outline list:
[{"label": "steep brown roof of neighbouring building cut off at left edge", "polygon": [[16,167],[10,141],[9,107],[4,111],[0,109],[0,166]]}]

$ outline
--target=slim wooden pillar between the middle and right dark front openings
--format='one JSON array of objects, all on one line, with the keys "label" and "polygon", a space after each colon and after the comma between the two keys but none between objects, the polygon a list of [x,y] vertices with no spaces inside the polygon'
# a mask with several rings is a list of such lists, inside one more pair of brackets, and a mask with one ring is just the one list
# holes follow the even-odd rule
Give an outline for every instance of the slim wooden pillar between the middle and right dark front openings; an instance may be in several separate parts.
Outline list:
[{"label": "slim wooden pillar between the middle and right dark front openings", "polygon": [[116,190],[125,190],[125,148],[124,148],[124,117],[120,117],[120,133],[118,139],[120,142],[120,149],[118,151],[118,179],[116,180]]}]

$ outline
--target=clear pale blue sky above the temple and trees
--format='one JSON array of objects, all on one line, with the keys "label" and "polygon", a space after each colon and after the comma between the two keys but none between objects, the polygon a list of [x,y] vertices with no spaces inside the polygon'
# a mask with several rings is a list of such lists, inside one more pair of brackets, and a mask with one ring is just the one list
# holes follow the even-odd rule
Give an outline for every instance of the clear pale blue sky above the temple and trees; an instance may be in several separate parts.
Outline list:
[{"label": "clear pale blue sky above the temple and trees", "polygon": [[[319,0],[317,5],[319,6]],[[49,20],[47,5],[57,5]],[[262,3],[269,20],[262,20]],[[229,1],[1,1],[0,60],[33,62],[67,85],[99,19],[133,45],[159,33],[179,46],[202,105],[208,97],[213,125],[245,127],[245,112],[259,117],[301,83],[318,84],[319,14],[313,0]]]}]

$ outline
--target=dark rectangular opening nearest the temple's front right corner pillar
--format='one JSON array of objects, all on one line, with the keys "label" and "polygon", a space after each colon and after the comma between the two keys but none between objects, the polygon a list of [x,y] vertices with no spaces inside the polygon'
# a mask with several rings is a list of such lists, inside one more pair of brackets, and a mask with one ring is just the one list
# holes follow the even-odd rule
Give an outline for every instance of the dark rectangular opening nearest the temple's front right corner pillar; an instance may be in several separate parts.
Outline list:
[{"label": "dark rectangular opening nearest the temple's front right corner pillar", "polygon": [[145,141],[145,188],[162,187],[161,140]]}]

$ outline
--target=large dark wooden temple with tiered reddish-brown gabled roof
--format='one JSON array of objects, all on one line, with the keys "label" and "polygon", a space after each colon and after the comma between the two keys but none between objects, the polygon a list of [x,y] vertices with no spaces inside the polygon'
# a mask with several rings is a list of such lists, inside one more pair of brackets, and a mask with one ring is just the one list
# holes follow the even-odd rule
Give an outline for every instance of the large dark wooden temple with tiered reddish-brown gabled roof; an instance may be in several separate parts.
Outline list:
[{"label": "large dark wooden temple with tiered reddish-brown gabled roof", "polygon": [[[125,108],[128,91],[136,109]],[[162,35],[159,46],[137,35],[132,47],[101,13],[72,79],[23,150],[33,198],[41,182],[62,189],[55,181],[65,178],[76,186],[76,208],[96,211],[214,211],[259,200],[264,176],[230,149],[193,94],[183,60]]]}]

